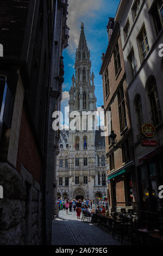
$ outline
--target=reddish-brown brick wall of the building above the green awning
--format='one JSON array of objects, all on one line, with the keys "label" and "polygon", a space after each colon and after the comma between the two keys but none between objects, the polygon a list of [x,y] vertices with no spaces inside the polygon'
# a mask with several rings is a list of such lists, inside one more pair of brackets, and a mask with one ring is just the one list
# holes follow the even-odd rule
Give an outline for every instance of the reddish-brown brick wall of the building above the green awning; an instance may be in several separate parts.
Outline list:
[{"label": "reddish-brown brick wall of the building above the green awning", "polygon": [[[119,54],[120,54],[120,63],[121,68],[118,70],[117,74],[115,72],[115,56],[114,51],[115,47],[118,45]],[[105,74],[108,69],[109,76],[109,94],[105,95]],[[111,35],[111,40],[109,40],[109,45],[106,50],[105,56],[103,58],[103,64],[101,68],[101,75],[103,75],[103,93],[104,93],[104,110],[109,111],[111,108],[111,123],[112,130],[116,134],[115,139],[115,148],[112,147],[111,143],[109,144],[109,137],[105,137],[106,144],[106,158],[107,163],[109,164],[108,175],[118,173],[118,170],[126,168],[127,164],[133,159],[132,150],[129,150],[129,159],[125,160],[122,156],[122,144],[128,139],[129,147],[132,144],[132,134],[131,134],[131,124],[130,124],[130,112],[129,112],[129,103],[128,103],[128,90],[126,82],[126,72],[124,67],[123,51],[122,51],[122,42],[120,36],[120,28],[117,23],[115,23],[114,30]],[[126,111],[126,127],[123,131],[120,126],[120,114],[118,109],[118,92],[120,88],[123,87],[124,94],[124,103]],[[106,114],[105,114],[105,123],[107,123]],[[114,154],[114,168],[110,168],[109,157],[111,154]],[[126,172],[126,170],[125,170]],[[128,175],[128,174],[127,174]],[[109,177],[108,177],[109,178]],[[111,178],[108,188],[109,188],[109,200],[110,200],[110,211],[120,210],[120,208],[125,208],[129,206],[128,198],[128,180],[126,175],[117,175],[115,178]],[[115,208],[116,206],[116,208]]]}]

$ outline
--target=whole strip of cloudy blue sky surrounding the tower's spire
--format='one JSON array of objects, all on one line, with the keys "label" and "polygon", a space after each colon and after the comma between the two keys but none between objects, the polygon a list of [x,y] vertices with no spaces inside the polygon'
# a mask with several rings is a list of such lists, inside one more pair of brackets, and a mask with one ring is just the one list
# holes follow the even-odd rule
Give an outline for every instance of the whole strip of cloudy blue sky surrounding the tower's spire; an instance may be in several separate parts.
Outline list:
[{"label": "whole strip of cloudy blue sky surrounding the tower's spire", "polygon": [[87,46],[91,52],[92,70],[95,74],[95,95],[97,107],[103,105],[102,76],[99,71],[102,65],[102,53],[108,46],[106,25],[109,17],[114,17],[119,0],[68,0],[67,25],[70,28],[69,46],[64,50],[65,81],[63,84],[61,109],[68,104],[68,90],[74,74],[76,48],[80,35],[80,22],[84,23]]}]

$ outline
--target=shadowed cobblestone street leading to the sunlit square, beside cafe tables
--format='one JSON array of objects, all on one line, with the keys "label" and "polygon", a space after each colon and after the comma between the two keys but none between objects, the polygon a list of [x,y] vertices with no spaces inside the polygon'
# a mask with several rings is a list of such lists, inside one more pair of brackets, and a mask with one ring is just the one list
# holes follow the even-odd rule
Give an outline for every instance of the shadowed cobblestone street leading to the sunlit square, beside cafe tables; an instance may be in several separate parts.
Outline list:
[{"label": "shadowed cobblestone street leading to the sunlit square, beside cafe tables", "polygon": [[[80,216],[82,218],[82,214]],[[127,243],[123,243],[127,245]],[[53,220],[52,245],[121,245],[111,233],[77,219],[76,213],[62,210]]]}]

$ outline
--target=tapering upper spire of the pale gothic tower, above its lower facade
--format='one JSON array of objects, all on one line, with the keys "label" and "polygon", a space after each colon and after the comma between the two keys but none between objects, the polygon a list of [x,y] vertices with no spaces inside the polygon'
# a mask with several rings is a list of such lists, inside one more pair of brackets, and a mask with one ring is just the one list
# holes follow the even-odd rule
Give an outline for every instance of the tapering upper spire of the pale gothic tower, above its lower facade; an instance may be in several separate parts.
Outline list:
[{"label": "tapering upper spire of the pale gothic tower, above its lower facade", "polygon": [[72,78],[72,89],[74,94],[74,104],[72,101],[71,91],[71,110],[74,111],[95,111],[96,97],[94,86],[94,74],[91,76],[91,60],[90,50],[84,33],[84,24],[81,25],[79,45],[76,51],[76,62],[74,64],[76,70],[75,77]]}]

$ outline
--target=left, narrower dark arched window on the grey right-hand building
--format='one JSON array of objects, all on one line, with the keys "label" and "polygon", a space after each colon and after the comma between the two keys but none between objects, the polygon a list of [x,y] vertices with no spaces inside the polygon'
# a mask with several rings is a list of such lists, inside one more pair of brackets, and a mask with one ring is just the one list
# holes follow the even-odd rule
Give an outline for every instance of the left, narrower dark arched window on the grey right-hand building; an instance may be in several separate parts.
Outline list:
[{"label": "left, narrower dark arched window on the grey right-hand building", "polygon": [[141,126],[143,125],[143,113],[142,113],[142,103],[140,94],[135,98],[135,110],[137,116],[137,129],[139,130],[139,134],[141,134]]}]

